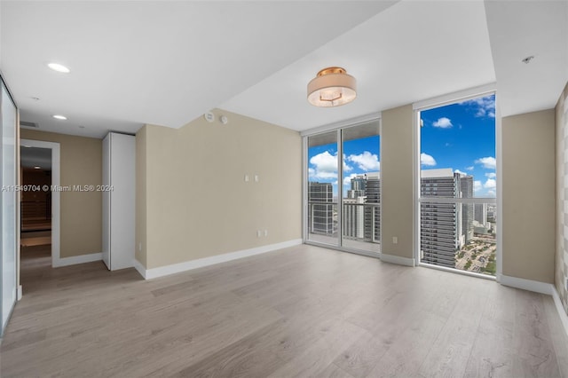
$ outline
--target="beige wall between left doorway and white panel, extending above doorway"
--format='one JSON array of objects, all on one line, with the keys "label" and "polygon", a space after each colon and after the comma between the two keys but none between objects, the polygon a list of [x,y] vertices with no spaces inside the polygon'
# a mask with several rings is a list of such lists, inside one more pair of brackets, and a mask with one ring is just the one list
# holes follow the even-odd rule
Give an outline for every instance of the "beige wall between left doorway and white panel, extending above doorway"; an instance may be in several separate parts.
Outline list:
[{"label": "beige wall between left doorway and white panel, extending above doorway", "polygon": [[[102,184],[102,141],[36,130],[20,130],[20,138],[59,143],[60,185]],[[60,257],[101,252],[100,192],[60,193]]]}]

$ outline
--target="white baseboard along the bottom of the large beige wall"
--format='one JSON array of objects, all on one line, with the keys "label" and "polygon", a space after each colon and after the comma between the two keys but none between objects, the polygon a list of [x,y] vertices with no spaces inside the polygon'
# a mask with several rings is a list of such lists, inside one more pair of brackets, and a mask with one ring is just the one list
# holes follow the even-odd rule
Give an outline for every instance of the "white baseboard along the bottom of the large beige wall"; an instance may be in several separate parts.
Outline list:
[{"label": "white baseboard along the bottom of the large beige wall", "polygon": [[225,263],[227,261],[236,260],[242,257],[260,255],[266,252],[272,252],[282,248],[294,247],[302,244],[302,239],[288,240],[281,243],[270,244],[267,246],[243,249],[236,252],[230,252],[223,255],[210,256],[205,258],[199,258],[197,260],[186,261],[179,264],[171,264],[166,266],[160,266],[159,268],[146,269],[142,264],[135,260],[134,268],[144,277],[146,280],[155,279],[158,277],[168,276],[170,274],[191,271],[192,269],[202,268],[204,266],[209,266],[213,264]]}]

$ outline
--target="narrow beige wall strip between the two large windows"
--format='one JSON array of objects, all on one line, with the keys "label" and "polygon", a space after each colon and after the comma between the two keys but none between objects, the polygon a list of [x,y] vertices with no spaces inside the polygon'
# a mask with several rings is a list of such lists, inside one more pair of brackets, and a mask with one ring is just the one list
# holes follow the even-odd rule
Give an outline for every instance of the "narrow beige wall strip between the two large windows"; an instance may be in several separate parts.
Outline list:
[{"label": "narrow beige wall strip between the two large windows", "polygon": [[[413,258],[414,111],[407,105],[382,114],[382,252]],[[392,243],[395,236],[398,244]]]}]

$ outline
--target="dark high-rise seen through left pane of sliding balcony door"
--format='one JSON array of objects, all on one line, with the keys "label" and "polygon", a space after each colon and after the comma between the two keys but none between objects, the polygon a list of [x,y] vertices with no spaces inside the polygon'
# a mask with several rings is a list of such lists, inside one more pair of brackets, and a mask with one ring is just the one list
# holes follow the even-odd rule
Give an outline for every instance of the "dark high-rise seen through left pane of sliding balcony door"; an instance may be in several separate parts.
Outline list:
[{"label": "dark high-rise seen through left pane of sliding balcony door", "polygon": [[310,232],[334,233],[334,198],[330,183],[308,183]]}]

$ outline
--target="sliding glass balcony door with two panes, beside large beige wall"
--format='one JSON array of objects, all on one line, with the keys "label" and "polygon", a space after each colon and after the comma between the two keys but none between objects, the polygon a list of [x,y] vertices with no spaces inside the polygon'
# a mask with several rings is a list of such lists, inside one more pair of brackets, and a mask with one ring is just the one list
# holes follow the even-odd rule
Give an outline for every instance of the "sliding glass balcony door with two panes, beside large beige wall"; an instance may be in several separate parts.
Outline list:
[{"label": "sliding glass balcony door with two panes, beside large beige wall", "polygon": [[306,240],[380,252],[379,134],[373,120],[305,137]]}]

